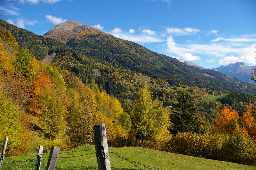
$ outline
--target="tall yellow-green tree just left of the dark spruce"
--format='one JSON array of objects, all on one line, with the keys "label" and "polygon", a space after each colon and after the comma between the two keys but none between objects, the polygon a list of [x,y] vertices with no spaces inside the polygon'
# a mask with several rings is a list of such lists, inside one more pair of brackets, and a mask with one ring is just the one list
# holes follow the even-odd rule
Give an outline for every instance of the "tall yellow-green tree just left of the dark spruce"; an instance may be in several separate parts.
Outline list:
[{"label": "tall yellow-green tree just left of the dark spruce", "polygon": [[131,119],[136,138],[135,146],[140,140],[139,146],[143,147],[145,139],[156,137],[161,134],[161,130],[167,130],[167,112],[163,110],[162,105],[152,101],[151,95],[147,85],[144,85],[132,106]]}]

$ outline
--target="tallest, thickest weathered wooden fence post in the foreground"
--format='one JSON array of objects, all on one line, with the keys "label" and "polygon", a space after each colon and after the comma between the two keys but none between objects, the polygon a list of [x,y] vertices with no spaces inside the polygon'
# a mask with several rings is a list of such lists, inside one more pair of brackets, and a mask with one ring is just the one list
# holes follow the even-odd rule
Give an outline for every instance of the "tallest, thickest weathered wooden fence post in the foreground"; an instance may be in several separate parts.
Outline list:
[{"label": "tallest, thickest weathered wooden fence post in the foreground", "polygon": [[93,126],[94,143],[99,170],[111,170],[105,124]]}]

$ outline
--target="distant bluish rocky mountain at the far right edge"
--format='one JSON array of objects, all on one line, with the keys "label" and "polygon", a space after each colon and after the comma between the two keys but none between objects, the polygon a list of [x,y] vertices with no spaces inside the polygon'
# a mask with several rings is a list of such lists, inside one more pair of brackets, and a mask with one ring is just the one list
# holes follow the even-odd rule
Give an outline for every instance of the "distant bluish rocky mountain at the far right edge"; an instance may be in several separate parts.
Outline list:
[{"label": "distant bluish rocky mountain at the far right edge", "polygon": [[234,64],[231,63],[227,66],[221,65],[220,67],[212,68],[212,70],[220,71],[223,74],[237,78],[244,82],[250,82],[253,69],[255,69],[255,66],[249,66],[242,62],[236,62]]}]

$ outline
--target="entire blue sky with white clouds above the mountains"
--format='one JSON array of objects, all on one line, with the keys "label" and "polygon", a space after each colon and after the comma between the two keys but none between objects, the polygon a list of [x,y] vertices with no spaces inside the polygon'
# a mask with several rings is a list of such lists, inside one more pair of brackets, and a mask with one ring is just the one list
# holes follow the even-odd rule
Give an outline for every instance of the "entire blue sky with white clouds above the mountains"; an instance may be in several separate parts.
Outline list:
[{"label": "entire blue sky with white clouds above the mountains", "polygon": [[205,68],[256,65],[255,0],[0,0],[0,18],[36,34],[75,20]]}]

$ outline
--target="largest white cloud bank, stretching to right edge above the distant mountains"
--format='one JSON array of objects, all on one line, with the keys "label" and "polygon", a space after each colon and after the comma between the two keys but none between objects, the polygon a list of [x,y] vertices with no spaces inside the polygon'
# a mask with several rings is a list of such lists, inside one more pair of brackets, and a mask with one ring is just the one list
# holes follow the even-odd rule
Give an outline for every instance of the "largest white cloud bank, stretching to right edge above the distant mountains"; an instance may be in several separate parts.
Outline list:
[{"label": "largest white cloud bank, stretching to right edge above the distant mountains", "polygon": [[[254,44],[242,44],[242,43],[208,43],[208,44],[175,44],[172,36],[167,38],[166,43],[168,49],[167,51],[170,55],[176,54],[178,56],[184,57],[184,53],[190,53],[194,55],[207,55],[210,57],[215,57],[219,63],[228,62],[248,62],[255,64],[255,47]],[[182,55],[183,54],[183,55]],[[233,55],[233,56],[232,56]],[[227,57],[228,56],[228,57]],[[235,57],[241,56],[241,57]],[[193,58],[193,57],[192,57]],[[195,57],[194,57],[195,58]],[[208,60],[207,62],[210,62]]]}]

